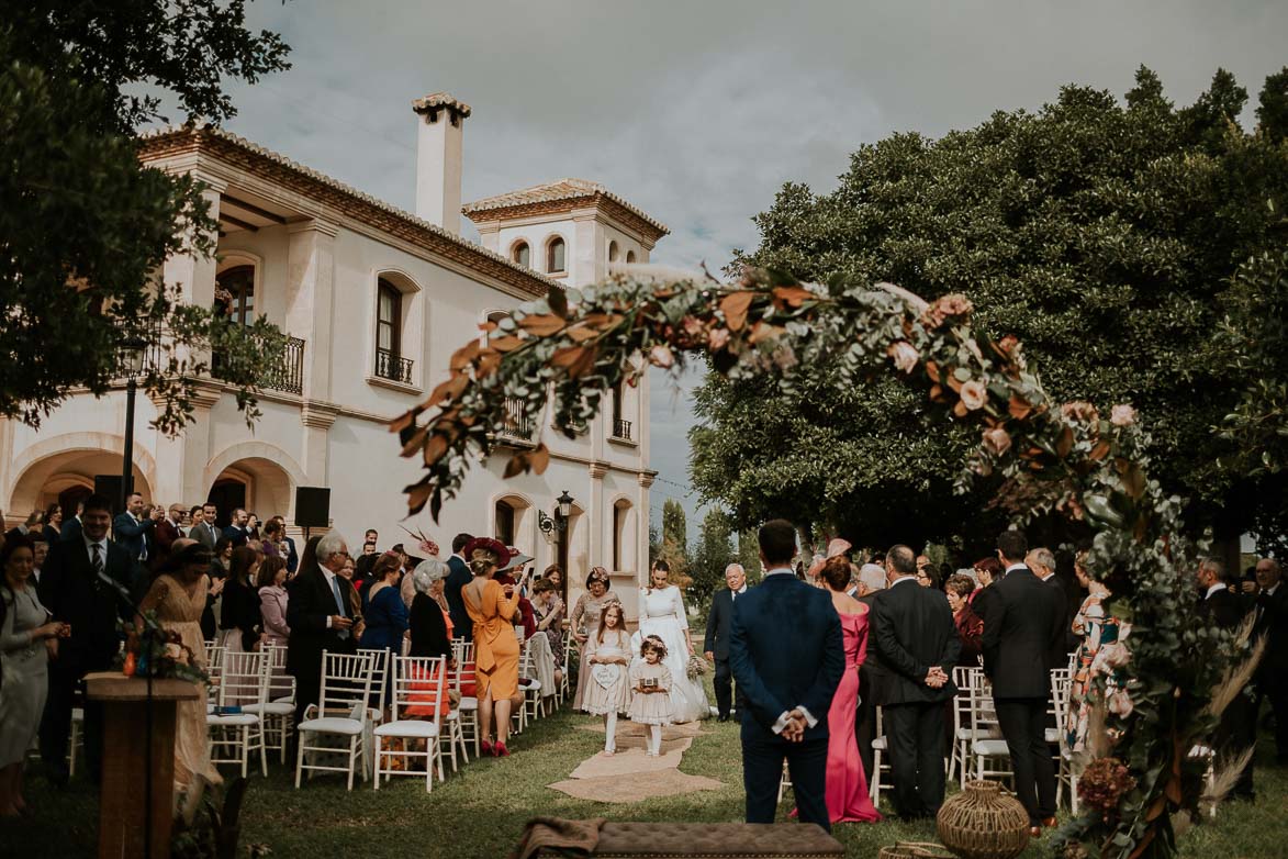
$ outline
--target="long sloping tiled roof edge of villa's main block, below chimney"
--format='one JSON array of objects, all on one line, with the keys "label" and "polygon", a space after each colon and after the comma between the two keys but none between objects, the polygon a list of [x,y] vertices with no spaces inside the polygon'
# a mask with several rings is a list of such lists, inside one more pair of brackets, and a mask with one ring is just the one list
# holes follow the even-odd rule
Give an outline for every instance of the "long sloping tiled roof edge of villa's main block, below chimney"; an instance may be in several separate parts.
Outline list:
[{"label": "long sloping tiled roof edge of villa's main block, below chimney", "polygon": [[[426,98],[433,98],[433,97],[426,97]],[[379,210],[384,216],[393,218],[397,222],[402,222],[403,225],[410,227],[413,231],[420,231],[421,234],[431,236],[434,241],[429,243],[443,245],[446,242],[455,246],[457,249],[457,252],[465,252],[466,259],[470,256],[478,259],[478,261],[482,263],[482,265],[478,265],[480,270],[486,272],[489,268],[495,269],[497,264],[501,264],[506,269],[511,269],[511,272],[509,273],[511,276],[504,279],[516,282],[519,281],[519,278],[514,278],[513,274],[519,274],[522,276],[522,279],[526,281],[526,283],[522,283],[522,286],[533,294],[544,295],[545,291],[550,287],[563,288],[563,285],[559,283],[558,281],[551,281],[544,274],[540,274],[524,265],[519,265],[518,263],[510,260],[506,256],[502,256],[501,254],[491,251],[483,247],[482,245],[466,241],[460,236],[457,236],[456,233],[443,229],[438,224],[430,223],[422,218],[417,218],[410,211],[398,209],[397,206],[393,206],[377,197],[372,197],[371,194],[363,191],[358,191],[357,188],[348,185],[340,182],[339,179],[334,179],[326,175],[325,173],[304,166],[303,164],[292,161],[291,158],[286,157],[285,155],[281,155],[279,152],[274,152],[273,149],[254,143],[252,140],[247,140],[246,138],[238,137],[232,131],[227,131],[215,125],[197,124],[192,126],[167,126],[162,129],[155,129],[152,131],[146,131],[144,134],[139,135],[140,155],[144,160],[147,160],[148,156],[153,153],[156,153],[156,156],[160,157],[165,155],[167,143],[179,143],[187,137],[193,137],[198,140],[200,138],[205,137],[205,138],[211,138],[216,142],[222,142],[224,144],[229,144],[233,148],[240,149],[246,155],[267,160],[281,170],[285,170],[290,174],[296,174],[298,176],[312,180],[330,189],[331,192],[339,193],[343,197],[349,197],[358,203]]]}]

